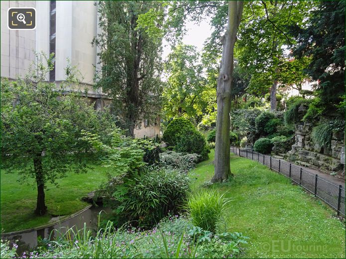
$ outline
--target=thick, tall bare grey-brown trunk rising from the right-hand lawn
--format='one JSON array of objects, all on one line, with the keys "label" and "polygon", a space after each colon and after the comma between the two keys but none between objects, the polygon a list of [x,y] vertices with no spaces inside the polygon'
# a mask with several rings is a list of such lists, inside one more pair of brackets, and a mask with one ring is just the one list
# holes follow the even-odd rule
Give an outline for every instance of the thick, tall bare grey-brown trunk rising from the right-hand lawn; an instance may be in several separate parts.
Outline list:
[{"label": "thick, tall bare grey-brown trunk rising from the right-hand lawn", "polygon": [[231,175],[230,166],[230,111],[231,84],[233,74],[234,44],[239,26],[242,1],[229,1],[229,22],[223,37],[223,54],[217,88],[218,113],[216,120],[215,174],[213,182],[227,180]]}]

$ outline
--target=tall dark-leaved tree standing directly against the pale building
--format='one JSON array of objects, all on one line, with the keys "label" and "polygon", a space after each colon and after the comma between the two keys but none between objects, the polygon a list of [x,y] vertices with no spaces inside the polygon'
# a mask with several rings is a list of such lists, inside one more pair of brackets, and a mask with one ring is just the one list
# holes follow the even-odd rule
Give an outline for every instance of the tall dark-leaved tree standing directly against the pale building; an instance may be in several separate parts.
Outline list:
[{"label": "tall dark-leaved tree standing directly against the pale building", "polygon": [[137,26],[137,19],[160,8],[155,1],[98,2],[102,32],[93,44],[100,47],[102,71],[97,87],[112,96],[112,111],[130,136],[142,119],[154,122],[159,112],[162,34]]}]

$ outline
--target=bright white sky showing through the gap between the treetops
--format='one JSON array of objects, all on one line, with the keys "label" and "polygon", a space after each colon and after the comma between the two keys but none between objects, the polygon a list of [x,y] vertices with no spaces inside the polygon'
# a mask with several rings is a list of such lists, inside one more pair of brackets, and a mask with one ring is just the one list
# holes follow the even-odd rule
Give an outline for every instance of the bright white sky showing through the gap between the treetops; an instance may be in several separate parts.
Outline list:
[{"label": "bright white sky showing through the gap between the treetops", "polygon": [[[185,23],[187,32],[183,38],[183,43],[188,45],[194,45],[198,51],[203,48],[203,43],[210,37],[212,33],[211,26],[209,24],[210,18],[202,20],[199,24],[195,24],[193,21],[187,21]],[[170,53],[171,48],[167,44],[167,41],[163,40],[163,53],[162,59],[165,60]]]}]

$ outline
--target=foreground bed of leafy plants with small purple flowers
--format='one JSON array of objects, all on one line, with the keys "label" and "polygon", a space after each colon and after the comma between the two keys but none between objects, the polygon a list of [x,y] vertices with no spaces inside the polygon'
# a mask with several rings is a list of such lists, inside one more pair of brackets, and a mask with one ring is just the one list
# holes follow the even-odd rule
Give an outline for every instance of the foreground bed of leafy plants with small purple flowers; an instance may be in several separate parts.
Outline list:
[{"label": "foreground bed of leafy plants with small purple flowers", "polygon": [[[247,237],[241,233],[213,235],[178,215],[164,218],[153,229],[115,229],[112,222],[94,230],[70,228],[56,240],[46,240],[31,258],[218,258],[238,256]],[[8,243],[2,243],[1,258],[10,258]],[[12,249],[14,251],[14,249]],[[213,254],[217,253],[217,254]],[[14,255],[14,254],[13,254]]]}]

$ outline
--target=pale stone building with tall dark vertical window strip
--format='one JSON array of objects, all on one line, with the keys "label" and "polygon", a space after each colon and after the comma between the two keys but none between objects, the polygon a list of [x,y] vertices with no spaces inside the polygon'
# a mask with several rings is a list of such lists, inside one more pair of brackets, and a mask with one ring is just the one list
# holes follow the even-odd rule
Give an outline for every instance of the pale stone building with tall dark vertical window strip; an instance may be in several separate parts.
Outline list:
[{"label": "pale stone building with tall dark vertical window strip", "polygon": [[[95,1],[78,0],[1,0],[1,67],[0,76],[8,79],[22,77],[30,64],[35,62],[35,52],[55,54],[55,66],[47,80],[57,86],[65,80],[68,60],[81,72],[80,87],[96,109],[110,105],[112,99],[102,88],[95,89],[94,76],[98,65],[98,48],[91,42],[97,35],[98,13]],[[9,7],[36,8],[34,30],[9,30],[7,10]],[[136,137],[155,137],[160,134],[159,123],[135,129]]]}]

